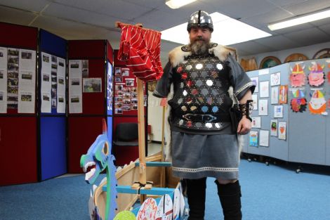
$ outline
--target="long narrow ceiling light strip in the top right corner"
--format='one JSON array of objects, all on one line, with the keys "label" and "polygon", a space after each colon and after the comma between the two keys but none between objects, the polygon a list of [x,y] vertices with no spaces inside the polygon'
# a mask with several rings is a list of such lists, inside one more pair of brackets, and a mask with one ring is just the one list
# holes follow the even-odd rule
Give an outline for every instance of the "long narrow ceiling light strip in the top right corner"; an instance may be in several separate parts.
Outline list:
[{"label": "long narrow ceiling light strip in the top right corner", "polygon": [[321,20],[321,19],[329,18],[329,17],[330,17],[330,10],[321,11],[319,13],[313,13],[311,15],[303,15],[303,16],[300,16],[298,18],[293,18],[291,20],[277,22],[275,24],[268,25],[268,28],[270,30],[279,30],[279,29],[282,29],[282,28],[292,27],[292,26],[295,26],[295,25],[301,25],[301,24],[305,24],[307,22],[312,22],[312,21],[315,21],[315,20]]}]

